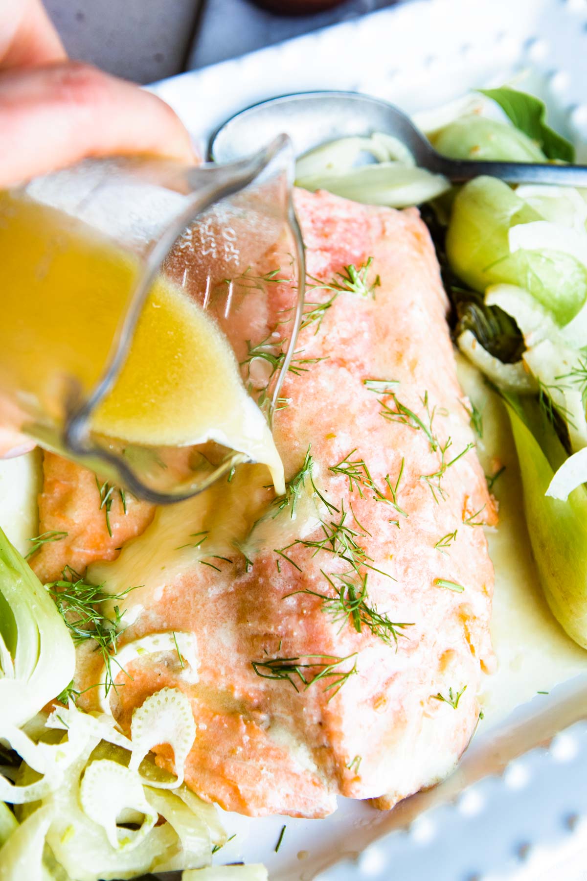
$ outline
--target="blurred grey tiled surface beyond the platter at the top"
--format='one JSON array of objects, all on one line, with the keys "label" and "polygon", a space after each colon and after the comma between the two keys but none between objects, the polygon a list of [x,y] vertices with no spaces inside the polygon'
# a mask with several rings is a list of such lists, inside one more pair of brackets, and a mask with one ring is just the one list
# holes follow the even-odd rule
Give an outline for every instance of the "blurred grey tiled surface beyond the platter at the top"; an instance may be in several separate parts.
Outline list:
[{"label": "blurred grey tiled surface beyond the platter at the top", "polygon": [[137,83],[152,83],[183,70],[244,55],[392,3],[45,0],[70,56]]}]

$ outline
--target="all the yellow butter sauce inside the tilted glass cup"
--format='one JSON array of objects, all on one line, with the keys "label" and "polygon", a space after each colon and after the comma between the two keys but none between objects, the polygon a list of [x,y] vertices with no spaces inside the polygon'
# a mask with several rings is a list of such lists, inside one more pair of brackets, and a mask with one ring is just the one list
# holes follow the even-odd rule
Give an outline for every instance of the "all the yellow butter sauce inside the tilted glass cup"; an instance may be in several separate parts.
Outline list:
[{"label": "all the yellow butter sauce inside the tilted glass cup", "polygon": [[[138,264],[78,220],[0,194],[0,389],[28,412],[63,418],[106,367],[130,303]],[[92,429],[148,446],[217,441],[283,469],[267,422],[241,380],[216,323],[180,288],[158,278],[113,389]]]}]

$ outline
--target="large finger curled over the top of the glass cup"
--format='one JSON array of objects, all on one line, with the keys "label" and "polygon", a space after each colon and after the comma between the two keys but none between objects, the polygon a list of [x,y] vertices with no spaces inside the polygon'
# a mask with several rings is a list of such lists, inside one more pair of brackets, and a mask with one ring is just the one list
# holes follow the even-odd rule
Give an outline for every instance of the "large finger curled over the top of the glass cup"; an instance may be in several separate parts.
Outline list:
[{"label": "large finger curled over the top of the glass cup", "polygon": [[196,161],[171,107],[132,83],[77,62],[0,74],[0,187],[125,154]]}]

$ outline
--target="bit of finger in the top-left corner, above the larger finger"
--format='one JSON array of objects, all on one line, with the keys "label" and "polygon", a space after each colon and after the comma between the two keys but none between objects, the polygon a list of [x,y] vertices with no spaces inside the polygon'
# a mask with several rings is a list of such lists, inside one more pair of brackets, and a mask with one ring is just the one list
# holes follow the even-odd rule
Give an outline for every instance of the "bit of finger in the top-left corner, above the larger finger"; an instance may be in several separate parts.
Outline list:
[{"label": "bit of finger in the top-left corner, above the larger finger", "polygon": [[40,0],[2,0],[0,69],[63,61],[62,41]]}]

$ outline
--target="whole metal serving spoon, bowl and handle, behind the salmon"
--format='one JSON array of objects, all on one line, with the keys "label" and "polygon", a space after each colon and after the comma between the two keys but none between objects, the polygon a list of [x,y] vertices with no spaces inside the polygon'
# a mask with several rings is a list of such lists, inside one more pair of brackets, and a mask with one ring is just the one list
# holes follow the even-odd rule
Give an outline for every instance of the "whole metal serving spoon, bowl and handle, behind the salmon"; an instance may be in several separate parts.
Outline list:
[{"label": "whole metal serving spoon, bowl and handle, behind the salmon", "polygon": [[338,137],[393,135],[406,144],[417,165],[444,174],[453,183],[489,174],[508,183],[554,183],[587,187],[587,166],[550,162],[477,162],[448,159],[429,144],[409,117],[393,104],[355,92],[306,92],[271,98],[247,107],[224,122],[209,143],[216,162],[242,159],[286,132],[297,156]]}]

